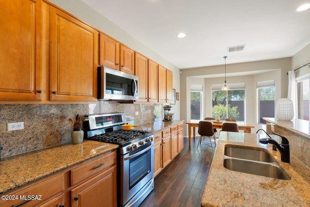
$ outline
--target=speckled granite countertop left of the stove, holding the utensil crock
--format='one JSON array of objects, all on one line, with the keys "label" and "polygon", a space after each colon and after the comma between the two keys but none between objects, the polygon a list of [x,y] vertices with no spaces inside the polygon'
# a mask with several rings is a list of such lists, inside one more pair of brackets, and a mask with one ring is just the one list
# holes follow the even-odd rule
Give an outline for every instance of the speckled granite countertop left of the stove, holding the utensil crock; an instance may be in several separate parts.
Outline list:
[{"label": "speckled granite countertop left of the stove, holding the utensil crock", "polygon": [[84,140],[62,144],[0,160],[0,193],[59,172],[87,159],[118,148],[118,145]]}]

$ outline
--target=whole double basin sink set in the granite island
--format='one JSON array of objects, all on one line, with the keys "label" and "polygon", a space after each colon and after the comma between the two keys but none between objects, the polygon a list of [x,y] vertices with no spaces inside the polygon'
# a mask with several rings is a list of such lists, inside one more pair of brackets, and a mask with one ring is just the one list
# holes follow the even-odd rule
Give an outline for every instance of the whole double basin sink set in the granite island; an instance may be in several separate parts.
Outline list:
[{"label": "whole double basin sink set in the granite island", "polygon": [[258,147],[225,145],[224,167],[242,173],[289,180],[278,161],[267,150]]}]

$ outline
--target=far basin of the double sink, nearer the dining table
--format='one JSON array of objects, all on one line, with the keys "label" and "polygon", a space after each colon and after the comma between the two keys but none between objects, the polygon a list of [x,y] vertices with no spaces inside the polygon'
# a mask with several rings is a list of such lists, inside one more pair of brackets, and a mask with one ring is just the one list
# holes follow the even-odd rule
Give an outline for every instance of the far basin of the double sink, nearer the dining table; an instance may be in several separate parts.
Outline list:
[{"label": "far basin of the double sink, nearer the dining table", "polygon": [[268,153],[258,149],[244,149],[240,147],[225,147],[224,155],[232,158],[250,159],[262,162],[275,162],[275,159]]}]

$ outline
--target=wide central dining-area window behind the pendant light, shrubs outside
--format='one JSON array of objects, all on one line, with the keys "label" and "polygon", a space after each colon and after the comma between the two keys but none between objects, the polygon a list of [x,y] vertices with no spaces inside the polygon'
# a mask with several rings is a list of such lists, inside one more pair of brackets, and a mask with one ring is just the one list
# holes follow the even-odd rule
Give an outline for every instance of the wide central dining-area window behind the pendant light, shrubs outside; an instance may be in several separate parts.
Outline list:
[{"label": "wide central dining-area window behind the pendant light, shrubs outside", "polygon": [[245,83],[229,84],[229,91],[222,91],[221,87],[212,85],[212,117],[245,121]]}]

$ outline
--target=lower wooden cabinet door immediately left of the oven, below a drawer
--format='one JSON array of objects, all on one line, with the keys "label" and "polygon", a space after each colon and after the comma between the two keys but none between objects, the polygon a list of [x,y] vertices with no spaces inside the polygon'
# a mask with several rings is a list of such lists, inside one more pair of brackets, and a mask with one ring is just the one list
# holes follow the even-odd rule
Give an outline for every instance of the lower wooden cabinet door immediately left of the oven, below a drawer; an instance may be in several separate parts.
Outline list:
[{"label": "lower wooden cabinet door immediately left of the oven, below a drawer", "polygon": [[71,190],[71,207],[117,206],[116,166]]}]

